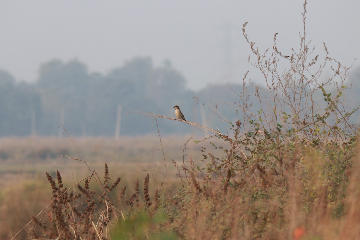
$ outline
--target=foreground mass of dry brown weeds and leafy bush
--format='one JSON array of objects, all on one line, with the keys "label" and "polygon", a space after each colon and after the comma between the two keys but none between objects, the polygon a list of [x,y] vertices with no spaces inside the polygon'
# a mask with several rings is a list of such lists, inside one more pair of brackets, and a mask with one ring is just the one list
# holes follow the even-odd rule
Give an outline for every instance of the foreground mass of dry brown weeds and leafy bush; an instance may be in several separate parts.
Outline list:
[{"label": "foreground mass of dry brown weeds and leafy bush", "polygon": [[[181,146],[180,157],[166,157],[160,132],[163,169],[144,173],[143,186],[135,176],[133,187],[120,178],[110,181],[107,164],[100,180],[99,171],[90,170],[91,164],[81,157],[90,175],[69,188],[64,187],[59,172],[57,182],[47,175],[53,194],[50,208],[27,225],[30,236],[359,239],[360,154],[356,150],[358,126],[351,123],[357,107],[349,109],[344,99],[350,68],[330,58],[325,44],[323,62],[318,62],[319,55],[312,56],[315,48],[306,38],[305,16],[306,1],[300,48],[292,49],[290,56],[276,46],[276,34],[273,47],[261,54],[244,24],[244,37],[255,56],[249,62],[267,84],[255,92],[262,108],[257,113],[250,110],[245,75],[243,91],[234,91],[238,99],[232,104],[239,119],[233,123],[218,115],[233,132],[211,131],[206,140],[213,149],[202,146],[198,150],[201,162],[187,155],[195,153],[188,149],[193,144],[190,139]],[[280,69],[283,64],[289,67]],[[324,81],[325,66],[333,75]],[[328,85],[336,86],[336,92],[327,92]],[[324,97],[325,104],[316,101],[318,96]],[[149,115],[155,121],[161,117]],[[170,160],[175,171],[170,171]],[[177,175],[175,181],[172,172]]]}]

